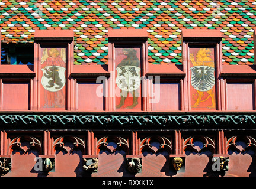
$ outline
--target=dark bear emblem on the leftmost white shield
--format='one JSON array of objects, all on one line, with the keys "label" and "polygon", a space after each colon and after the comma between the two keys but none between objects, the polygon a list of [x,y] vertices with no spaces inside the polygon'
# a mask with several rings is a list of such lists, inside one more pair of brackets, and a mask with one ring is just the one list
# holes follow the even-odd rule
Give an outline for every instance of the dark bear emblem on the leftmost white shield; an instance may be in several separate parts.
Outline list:
[{"label": "dark bear emblem on the leftmost white shield", "polygon": [[57,66],[51,66],[49,67],[49,70],[46,68],[45,70],[46,70],[46,73],[44,73],[44,76],[47,77],[48,79],[51,79],[48,82],[49,85],[46,85],[46,87],[51,88],[54,86],[54,84],[57,84],[58,87],[56,87],[56,89],[61,89],[63,86],[63,83],[62,83],[62,79],[60,79],[60,76],[59,76],[59,68]]}]

